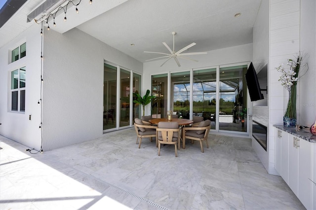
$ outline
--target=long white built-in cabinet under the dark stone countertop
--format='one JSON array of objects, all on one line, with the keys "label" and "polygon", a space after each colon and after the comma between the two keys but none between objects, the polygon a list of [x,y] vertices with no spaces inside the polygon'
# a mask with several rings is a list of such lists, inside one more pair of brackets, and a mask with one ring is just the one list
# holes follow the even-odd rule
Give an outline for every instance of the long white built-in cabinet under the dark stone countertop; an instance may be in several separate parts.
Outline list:
[{"label": "long white built-in cabinet under the dark stone countertop", "polygon": [[316,209],[316,143],[276,129],[275,169],[306,209]]}]

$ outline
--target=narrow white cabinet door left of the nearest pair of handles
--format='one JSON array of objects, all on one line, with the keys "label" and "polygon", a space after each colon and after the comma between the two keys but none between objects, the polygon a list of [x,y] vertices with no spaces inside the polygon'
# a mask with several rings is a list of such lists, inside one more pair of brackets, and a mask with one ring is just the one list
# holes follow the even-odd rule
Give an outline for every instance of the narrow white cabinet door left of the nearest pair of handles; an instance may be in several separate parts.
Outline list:
[{"label": "narrow white cabinet door left of the nearest pair of handles", "polygon": [[296,148],[296,138],[288,135],[288,186],[298,197],[298,149]]}]

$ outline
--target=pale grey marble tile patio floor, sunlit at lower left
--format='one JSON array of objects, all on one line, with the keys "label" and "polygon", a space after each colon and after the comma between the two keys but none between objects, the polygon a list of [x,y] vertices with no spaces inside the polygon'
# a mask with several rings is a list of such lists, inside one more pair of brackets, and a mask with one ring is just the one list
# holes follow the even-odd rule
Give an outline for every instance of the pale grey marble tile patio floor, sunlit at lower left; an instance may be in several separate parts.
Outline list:
[{"label": "pale grey marble tile patio floor, sunlit at lower left", "polygon": [[31,154],[0,136],[1,210],[305,209],[268,175],[251,140],[210,134],[204,143],[136,144],[134,128]]}]

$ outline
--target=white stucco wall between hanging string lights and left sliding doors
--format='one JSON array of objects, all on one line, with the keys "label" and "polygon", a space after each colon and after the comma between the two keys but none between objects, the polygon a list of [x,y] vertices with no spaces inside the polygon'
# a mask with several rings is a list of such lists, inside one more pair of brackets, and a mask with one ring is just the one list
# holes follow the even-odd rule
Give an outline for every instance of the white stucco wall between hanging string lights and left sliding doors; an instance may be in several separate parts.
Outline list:
[{"label": "white stucco wall between hanging string lights and left sliding doors", "polygon": [[141,62],[78,29],[44,30],[44,150],[103,134],[104,60],[142,73]]}]

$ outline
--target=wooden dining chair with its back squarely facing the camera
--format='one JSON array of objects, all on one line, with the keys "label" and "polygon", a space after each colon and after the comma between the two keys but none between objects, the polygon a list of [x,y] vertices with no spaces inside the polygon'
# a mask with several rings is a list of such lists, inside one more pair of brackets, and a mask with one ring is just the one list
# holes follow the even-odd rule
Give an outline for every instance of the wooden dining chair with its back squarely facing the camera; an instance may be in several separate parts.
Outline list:
[{"label": "wooden dining chair with its back squarely facing the camera", "polygon": [[156,143],[158,143],[158,156],[160,156],[161,144],[174,144],[174,151],[178,157],[178,149],[180,149],[180,129],[177,122],[159,122],[156,129]]}]

